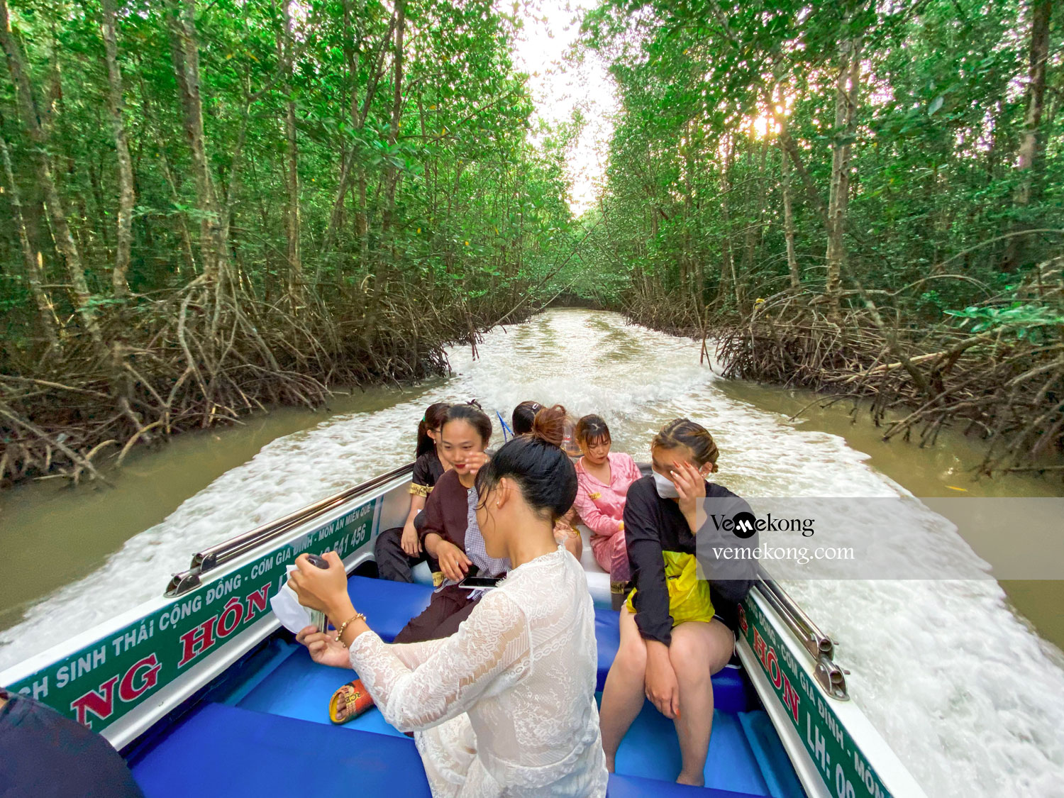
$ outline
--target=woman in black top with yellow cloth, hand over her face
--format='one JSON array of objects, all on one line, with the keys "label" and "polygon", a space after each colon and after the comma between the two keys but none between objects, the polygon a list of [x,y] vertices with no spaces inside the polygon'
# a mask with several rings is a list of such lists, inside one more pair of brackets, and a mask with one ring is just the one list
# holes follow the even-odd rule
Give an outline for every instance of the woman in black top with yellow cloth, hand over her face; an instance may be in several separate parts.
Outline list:
[{"label": "woman in black top with yellow cloth, hand over her face", "polygon": [[[635,589],[620,611],[620,646],[602,691],[602,747],[612,771],[646,695],[676,724],[683,760],[677,781],[701,785],[713,724],[710,677],[731,659],[735,603],[751,581],[737,579],[749,576],[748,565],[742,573],[729,570],[727,581],[694,579],[696,511],[706,497],[726,505],[710,512],[729,517],[749,505],[705,481],[717,470],[717,447],[700,425],[670,421],[654,436],[651,455],[653,475],[632,483],[625,504]],[[706,529],[712,525],[703,534]],[[750,545],[737,537],[729,543]]]}]

